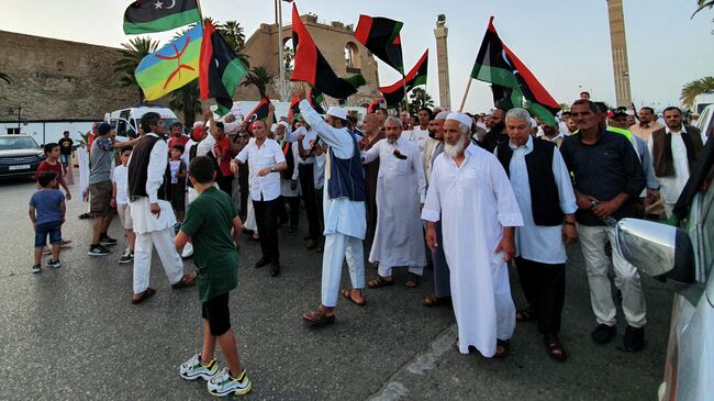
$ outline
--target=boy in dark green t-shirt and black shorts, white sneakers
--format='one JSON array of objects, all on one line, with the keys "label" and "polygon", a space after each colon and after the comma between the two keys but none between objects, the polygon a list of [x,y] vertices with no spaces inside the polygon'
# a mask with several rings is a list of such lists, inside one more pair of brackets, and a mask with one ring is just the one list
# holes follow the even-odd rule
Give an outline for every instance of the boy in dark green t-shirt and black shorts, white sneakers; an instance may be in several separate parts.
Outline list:
[{"label": "boy in dark green t-shirt and black shorts, white sneakers", "polygon": [[[203,348],[181,364],[180,375],[187,380],[208,380],[212,396],[245,394],[250,380],[241,367],[235,334],[231,328],[228,292],[238,281],[238,256],[231,229],[242,232],[231,197],[214,188],[213,160],[199,156],[191,160],[189,179],[199,197],[189,205],[181,230],[176,235],[176,247],[193,244],[193,263],[198,269],[199,299],[202,302]],[[221,346],[227,367],[219,371],[215,343]]]}]

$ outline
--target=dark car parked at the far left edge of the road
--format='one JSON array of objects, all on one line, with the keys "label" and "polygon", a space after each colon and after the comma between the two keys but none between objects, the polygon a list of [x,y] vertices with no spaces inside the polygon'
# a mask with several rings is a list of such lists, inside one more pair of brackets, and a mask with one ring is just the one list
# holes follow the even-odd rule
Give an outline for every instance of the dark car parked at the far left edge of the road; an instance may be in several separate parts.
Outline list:
[{"label": "dark car parked at the far left edge of the road", "polygon": [[0,177],[31,177],[45,153],[30,135],[0,135]]}]

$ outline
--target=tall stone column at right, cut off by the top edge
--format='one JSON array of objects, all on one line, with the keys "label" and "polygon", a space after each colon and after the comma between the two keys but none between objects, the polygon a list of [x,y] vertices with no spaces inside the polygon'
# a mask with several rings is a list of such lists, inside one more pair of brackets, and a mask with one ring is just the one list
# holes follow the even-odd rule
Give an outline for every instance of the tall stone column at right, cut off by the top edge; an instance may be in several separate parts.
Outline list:
[{"label": "tall stone column at right, cut off by the top edge", "polygon": [[629,92],[629,66],[627,63],[627,41],[625,36],[625,16],[622,0],[607,0],[610,19],[610,43],[612,46],[612,65],[615,75],[615,98],[617,107],[632,104]]}]

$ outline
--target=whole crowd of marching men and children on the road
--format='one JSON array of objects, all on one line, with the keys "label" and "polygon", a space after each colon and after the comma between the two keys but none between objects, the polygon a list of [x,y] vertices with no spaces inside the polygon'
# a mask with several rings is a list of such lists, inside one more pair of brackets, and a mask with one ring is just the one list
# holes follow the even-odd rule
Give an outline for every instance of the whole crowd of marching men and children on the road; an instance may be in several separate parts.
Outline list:
[{"label": "whole crowd of marching men and children on the road", "polygon": [[[216,396],[250,390],[228,311],[237,240],[247,233],[259,241],[254,267],[276,278],[278,229],[288,224],[294,233],[301,208],[304,245],[322,254],[320,303],[302,315],[310,326],[334,323],[341,298],[365,305],[365,289],[393,286],[395,268],[406,269],[408,288],[433,271],[422,303],[453,307],[460,353],[503,358],[516,322],[535,321],[547,355],[564,361],[566,246],[579,242],[596,322],[592,341],[615,336],[612,260],[627,322],[624,348],[643,349],[645,294],[636,267],[615,244],[615,224],[671,216],[706,140],[683,123],[680,109],[665,109],[660,123],[651,108],[637,115],[610,110],[583,92],[555,123],[517,108],[481,114],[423,108],[415,116],[378,109],[358,121],[338,107],[319,114],[302,88],[295,96],[299,115],[291,111],[278,121],[271,105],[266,121],[232,114],[214,121],[207,111],[189,135],[150,112],[135,140],[116,141],[108,123],[92,129],[88,254],[111,255],[119,241],[108,229],[119,214],[125,250],[118,261],[133,263],[132,303],[156,294],[149,286],[154,248],[171,288],[198,283],[203,347],[181,365],[181,377],[208,380]],[[47,266],[60,266],[65,201],[71,199],[63,179],[66,148],[45,146],[40,189],[30,201],[34,272],[42,270],[47,236]],[[185,270],[182,258],[191,256],[198,275]],[[376,267],[369,280],[365,257]],[[345,260],[352,286],[341,289]],[[511,264],[527,301],[518,309]],[[221,370],[216,342],[227,364]]]}]

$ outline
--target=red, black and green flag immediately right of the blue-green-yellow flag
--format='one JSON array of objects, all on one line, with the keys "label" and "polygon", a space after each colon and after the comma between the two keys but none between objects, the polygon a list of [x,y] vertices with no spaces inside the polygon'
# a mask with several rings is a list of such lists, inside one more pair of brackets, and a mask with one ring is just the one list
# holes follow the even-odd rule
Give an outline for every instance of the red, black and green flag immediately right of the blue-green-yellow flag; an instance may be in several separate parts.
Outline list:
[{"label": "red, black and green flag immediately right of the blue-green-yellow flag", "polygon": [[214,98],[215,112],[225,115],[233,108],[233,92],[248,69],[233,53],[210,21],[203,24],[201,45],[201,74],[199,86],[201,99]]}]

